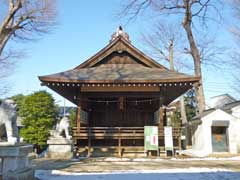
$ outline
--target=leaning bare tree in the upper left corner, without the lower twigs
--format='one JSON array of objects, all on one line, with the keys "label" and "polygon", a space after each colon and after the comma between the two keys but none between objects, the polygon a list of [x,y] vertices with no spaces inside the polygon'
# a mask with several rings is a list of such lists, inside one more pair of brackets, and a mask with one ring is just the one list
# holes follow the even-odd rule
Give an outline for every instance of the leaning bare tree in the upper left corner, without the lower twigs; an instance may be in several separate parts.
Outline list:
[{"label": "leaning bare tree in the upper left corner, without the lower twigs", "polygon": [[0,55],[11,38],[32,39],[36,33],[48,32],[54,22],[54,0],[8,0],[8,12],[0,25]]}]

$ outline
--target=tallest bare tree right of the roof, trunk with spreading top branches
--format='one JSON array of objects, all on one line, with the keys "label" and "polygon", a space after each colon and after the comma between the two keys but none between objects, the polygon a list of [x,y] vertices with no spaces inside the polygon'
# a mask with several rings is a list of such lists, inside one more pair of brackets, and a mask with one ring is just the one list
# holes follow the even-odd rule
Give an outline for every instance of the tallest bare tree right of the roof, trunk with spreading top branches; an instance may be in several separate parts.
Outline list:
[{"label": "tallest bare tree right of the roof, trunk with spreading top branches", "polygon": [[129,18],[133,19],[148,7],[161,14],[173,14],[182,17],[182,27],[187,35],[189,44],[188,52],[194,62],[195,76],[200,77],[199,86],[196,87],[196,94],[199,112],[202,112],[205,109],[205,98],[202,84],[201,54],[193,33],[193,19],[200,18],[202,24],[206,25],[206,20],[212,19],[211,16],[208,16],[211,9],[215,10],[220,16],[217,11],[216,2],[211,2],[210,0],[129,0],[122,14],[129,15]]}]

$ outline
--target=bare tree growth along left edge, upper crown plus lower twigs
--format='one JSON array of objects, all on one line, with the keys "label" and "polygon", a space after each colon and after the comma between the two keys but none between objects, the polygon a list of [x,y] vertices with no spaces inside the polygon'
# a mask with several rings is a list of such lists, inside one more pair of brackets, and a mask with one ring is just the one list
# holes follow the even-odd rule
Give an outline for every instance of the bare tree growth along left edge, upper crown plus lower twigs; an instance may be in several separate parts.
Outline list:
[{"label": "bare tree growth along left edge, upper crown plus lower twigs", "polygon": [[0,79],[10,74],[9,69],[13,67],[13,59],[22,56],[22,52],[6,49],[7,43],[10,40],[33,40],[36,35],[49,32],[50,27],[54,26],[56,22],[55,5],[54,0],[0,0],[2,11],[0,18]]}]

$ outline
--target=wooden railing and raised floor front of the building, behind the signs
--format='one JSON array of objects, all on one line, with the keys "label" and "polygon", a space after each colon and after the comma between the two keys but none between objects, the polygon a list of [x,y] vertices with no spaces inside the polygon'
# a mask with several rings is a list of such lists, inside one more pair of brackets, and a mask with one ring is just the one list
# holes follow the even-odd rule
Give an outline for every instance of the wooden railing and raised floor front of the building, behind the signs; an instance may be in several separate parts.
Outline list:
[{"label": "wooden railing and raised floor front of the building, behind the signs", "polygon": [[[143,155],[144,127],[74,127],[73,139],[81,155]],[[164,129],[158,129],[159,150],[164,151]],[[174,148],[181,148],[181,128],[173,128]]]}]

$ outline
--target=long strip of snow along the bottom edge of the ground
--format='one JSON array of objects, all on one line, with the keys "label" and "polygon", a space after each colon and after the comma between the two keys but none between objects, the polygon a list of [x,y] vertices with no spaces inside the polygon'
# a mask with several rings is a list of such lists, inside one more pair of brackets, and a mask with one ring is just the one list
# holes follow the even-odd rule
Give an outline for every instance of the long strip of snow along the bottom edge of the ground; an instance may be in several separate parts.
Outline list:
[{"label": "long strip of snow along the bottom edge of the ground", "polygon": [[41,180],[238,180],[240,179],[240,172],[209,168],[161,169],[109,173],[71,173],[60,170],[36,170],[35,177]]}]

